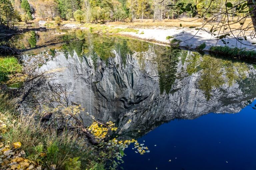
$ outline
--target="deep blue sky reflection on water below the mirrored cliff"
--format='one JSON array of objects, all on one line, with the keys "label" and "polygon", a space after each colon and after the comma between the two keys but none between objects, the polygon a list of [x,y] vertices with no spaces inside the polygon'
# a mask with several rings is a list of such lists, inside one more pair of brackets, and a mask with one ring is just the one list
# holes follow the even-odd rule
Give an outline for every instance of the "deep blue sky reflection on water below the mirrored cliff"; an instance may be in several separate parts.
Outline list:
[{"label": "deep blue sky reflection on water below the mirrored cliff", "polygon": [[125,170],[256,170],[255,123],[256,110],[250,106],[237,114],[210,113],[195,120],[174,120],[138,139],[149,147],[150,153],[140,155],[127,148],[122,167]]}]

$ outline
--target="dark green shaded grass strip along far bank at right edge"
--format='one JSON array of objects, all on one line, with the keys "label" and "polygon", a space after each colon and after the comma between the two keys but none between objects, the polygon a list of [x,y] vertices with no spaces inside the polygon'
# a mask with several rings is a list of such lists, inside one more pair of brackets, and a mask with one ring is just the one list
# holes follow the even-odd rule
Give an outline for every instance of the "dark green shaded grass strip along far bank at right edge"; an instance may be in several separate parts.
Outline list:
[{"label": "dark green shaded grass strip along far bank at right edge", "polygon": [[229,55],[230,57],[241,57],[247,59],[255,59],[256,51],[255,50],[246,50],[243,48],[231,48],[229,46],[211,46],[211,52],[221,53]]}]

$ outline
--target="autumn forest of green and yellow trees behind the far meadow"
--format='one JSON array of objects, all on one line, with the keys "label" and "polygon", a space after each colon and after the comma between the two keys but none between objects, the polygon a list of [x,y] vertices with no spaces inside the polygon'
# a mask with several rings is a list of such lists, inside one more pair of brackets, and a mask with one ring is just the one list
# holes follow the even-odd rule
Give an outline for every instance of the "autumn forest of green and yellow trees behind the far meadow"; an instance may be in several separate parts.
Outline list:
[{"label": "autumn forest of green and yellow trees behind the far meadow", "polygon": [[[231,1],[230,1],[231,2]],[[34,20],[70,20],[81,23],[133,22],[135,19],[163,19],[195,17],[190,10],[174,5],[191,4],[199,9],[211,6],[206,17],[225,9],[221,0],[0,0],[0,22],[14,26],[17,22]],[[241,4],[232,1],[233,6]],[[180,14],[180,11],[183,13]],[[199,14],[198,14],[199,15]],[[239,14],[241,17],[244,13]],[[238,16],[239,16],[238,15]],[[235,15],[231,16],[232,18]]]}]

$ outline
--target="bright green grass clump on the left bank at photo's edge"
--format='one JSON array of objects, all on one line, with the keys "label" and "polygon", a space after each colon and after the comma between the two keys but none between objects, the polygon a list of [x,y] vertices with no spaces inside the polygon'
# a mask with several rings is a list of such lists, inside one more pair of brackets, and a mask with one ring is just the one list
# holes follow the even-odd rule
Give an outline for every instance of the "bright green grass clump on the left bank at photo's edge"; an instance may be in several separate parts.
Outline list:
[{"label": "bright green grass clump on the left bank at photo's edge", "polygon": [[15,57],[0,58],[0,82],[7,81],[8,77],[22,72],[22,65]]}]

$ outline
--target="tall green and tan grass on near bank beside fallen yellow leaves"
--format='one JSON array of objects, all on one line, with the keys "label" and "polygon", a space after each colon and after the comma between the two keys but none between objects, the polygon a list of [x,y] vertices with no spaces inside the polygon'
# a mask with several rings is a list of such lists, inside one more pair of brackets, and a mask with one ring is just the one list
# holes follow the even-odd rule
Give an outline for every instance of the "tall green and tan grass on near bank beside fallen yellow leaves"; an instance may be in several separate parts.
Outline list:
[{"label": "tall green and tan grass on near bank beside fallen yellow leaves", "polygon": [[[5,144],[20,142],[25,158],[42,166],[56,170],[103,170],[104,165],[96,156],[92,146],[78,135],[57,128],[44,128],[34,114],[18,115],[15,102],[0,93],[0,135]],[[4,126],[3,126],[4,125]]]}]

